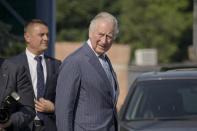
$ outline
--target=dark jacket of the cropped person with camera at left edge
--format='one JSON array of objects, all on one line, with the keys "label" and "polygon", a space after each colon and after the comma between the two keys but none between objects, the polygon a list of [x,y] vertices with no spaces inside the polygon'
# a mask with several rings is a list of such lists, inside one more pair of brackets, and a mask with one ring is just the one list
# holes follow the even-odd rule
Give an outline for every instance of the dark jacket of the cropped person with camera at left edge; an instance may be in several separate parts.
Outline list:
[{"label": "dark jacket of the cropped person with camera at left edge", "polygon": [[12,92],[20,95],[18,103],[11,104],[12,127],[6,131],[30,131],[28,124],[35,117],[33,90],[25,68],[0,58],[0,103]]}]

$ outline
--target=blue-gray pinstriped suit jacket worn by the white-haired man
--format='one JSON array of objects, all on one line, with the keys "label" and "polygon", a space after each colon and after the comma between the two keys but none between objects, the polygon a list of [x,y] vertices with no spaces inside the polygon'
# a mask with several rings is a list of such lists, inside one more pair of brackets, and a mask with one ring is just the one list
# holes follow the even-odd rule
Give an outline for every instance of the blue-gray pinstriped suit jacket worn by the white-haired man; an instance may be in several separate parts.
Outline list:
[{"label": "blue-gray pinstriped suit jacket worn by the white-haired man", "polygon": [[56,88],[58,131],[117,131],[119,88],[112,66],[111,69],[115,97],[98,57],[88,44],[64,60]]}]

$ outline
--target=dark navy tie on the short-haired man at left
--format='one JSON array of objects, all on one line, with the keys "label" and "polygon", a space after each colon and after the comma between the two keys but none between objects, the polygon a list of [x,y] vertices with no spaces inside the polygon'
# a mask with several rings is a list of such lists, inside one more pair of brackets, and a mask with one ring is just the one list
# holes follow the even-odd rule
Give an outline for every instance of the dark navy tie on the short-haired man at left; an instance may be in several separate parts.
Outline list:
[{"label": "dark navy tie on the short-haired man at left", "polygon": [[[37,100],[43,97],[44,94],[44,73],[42,67],[42,57],[36,56],[35,60],[37,61]],[[40,120],[43,119],[43,115],[40,112],[37,112],[37,116]]]}]

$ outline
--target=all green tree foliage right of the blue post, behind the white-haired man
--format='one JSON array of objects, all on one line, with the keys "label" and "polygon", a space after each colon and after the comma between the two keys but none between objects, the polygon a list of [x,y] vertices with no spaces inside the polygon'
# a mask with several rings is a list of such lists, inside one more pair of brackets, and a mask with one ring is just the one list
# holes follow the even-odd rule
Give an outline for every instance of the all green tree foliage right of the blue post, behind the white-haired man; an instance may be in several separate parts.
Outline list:
[{"label": "all green tree foliage right of the blue post, behind the white-haired man", "polygon": [[187,59],[192,43],[192,0],[58,0],[57,40],[84,41],[90,20],[101,11],[119,21],[119,43],[156,48],[160,63]]}]

